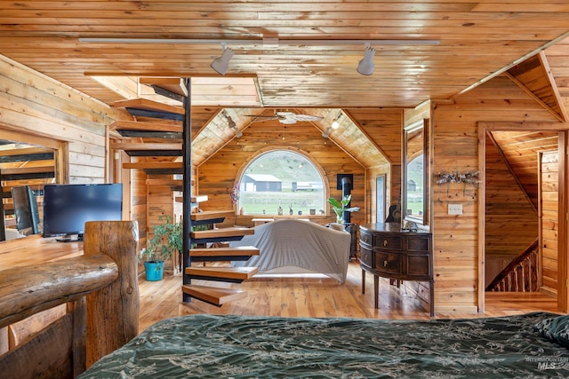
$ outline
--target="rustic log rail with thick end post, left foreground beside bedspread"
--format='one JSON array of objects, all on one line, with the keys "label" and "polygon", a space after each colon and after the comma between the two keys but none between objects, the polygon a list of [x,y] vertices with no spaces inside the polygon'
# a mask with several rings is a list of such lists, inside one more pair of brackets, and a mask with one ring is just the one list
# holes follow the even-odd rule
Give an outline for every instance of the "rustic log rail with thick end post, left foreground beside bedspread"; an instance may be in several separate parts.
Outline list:
[{"label": "rustic log rail with thick end post, left foreground beside bedspread", "polygon": [[[0,355],[0,376],[74,378],[136,336],[138,240],[134,221],[89,222],[84,255],[3,269],[0,330],[37,312],[67,305],[60,319]],[[34,255],[42,253],[41,245],[27,249]],[[25,258],[26,252],[6,249],[2,254]]]}]

